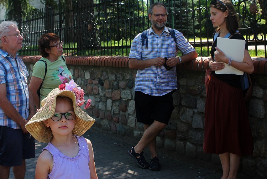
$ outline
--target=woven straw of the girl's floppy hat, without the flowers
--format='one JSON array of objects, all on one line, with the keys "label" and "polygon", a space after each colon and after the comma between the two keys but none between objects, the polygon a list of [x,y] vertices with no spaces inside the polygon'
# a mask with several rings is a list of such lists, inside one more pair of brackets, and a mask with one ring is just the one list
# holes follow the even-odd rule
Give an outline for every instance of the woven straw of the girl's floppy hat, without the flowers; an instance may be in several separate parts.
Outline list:
[{"label": "woven straw of the girl's floppy hat, without the flowers", "polygon": [[[72,130],[72,134],[81,136],[84,134],[95,122],[95,119],[91,118],[86,112],[84,112],[78,105],[76,105],[76,96],[72,91],[60,90],[59,88],[53,89],[46,98],[41,102],[42,108],[29,120],[25,125],[28,132],[41,142],[48,143],[47,133],[44,133],[43,128],[45,121],[55,113],[56,97],[69,97],[73,103],[73,109],[76,114],[75,126]],[[46,126],[45,126],[46,127]]]}]

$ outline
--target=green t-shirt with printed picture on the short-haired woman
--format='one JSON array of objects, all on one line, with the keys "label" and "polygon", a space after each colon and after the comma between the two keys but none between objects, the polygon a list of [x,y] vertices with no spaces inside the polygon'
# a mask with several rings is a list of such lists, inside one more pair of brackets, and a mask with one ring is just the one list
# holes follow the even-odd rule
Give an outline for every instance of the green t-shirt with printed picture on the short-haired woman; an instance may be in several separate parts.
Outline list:
[{"label": "green t-shirt with printed picture on the short-haired woman", "polygon": [[[62,56],[63,57],[63,56]],[[47,97],[53,89],[58,88],[61,83],[68,83],[72,79],[71,72],[68,70],[65,61],[60,56],[56,61],[51,62],[47,58],[42,57],[41,60],[46,61],[47,72],[45,73],[45,63],[37,61],[33,67],[32,76],[44,79],[40,89],[40,107],[41,101]]]}]

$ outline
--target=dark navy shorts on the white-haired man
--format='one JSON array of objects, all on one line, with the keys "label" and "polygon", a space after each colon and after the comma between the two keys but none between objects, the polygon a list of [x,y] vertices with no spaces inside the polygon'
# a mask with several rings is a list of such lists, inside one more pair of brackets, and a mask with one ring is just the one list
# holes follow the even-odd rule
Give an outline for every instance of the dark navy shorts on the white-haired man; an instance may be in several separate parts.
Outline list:
[{"label": "dark navy shorts on the white-haired man", "polygon": [[23,159],[35,157],[34,138],[21,129],[0,126],[0,165],[21,166]]}]

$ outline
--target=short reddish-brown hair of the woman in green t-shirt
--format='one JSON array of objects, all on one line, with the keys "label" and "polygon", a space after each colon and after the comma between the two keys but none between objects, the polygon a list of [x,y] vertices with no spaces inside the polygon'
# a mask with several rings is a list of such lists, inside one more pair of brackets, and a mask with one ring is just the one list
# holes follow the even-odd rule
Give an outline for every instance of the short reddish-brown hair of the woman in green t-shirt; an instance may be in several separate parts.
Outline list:
[{"label": "short reddish-brown hair of the woman in green t-shirt", "polygon": [[50,42],[58,42],[60,40],[59,36],[54,33],[42,34],[38,40],[39,52],[42,57],[48,57],[49,54],[45,51],[45,48],[50,49]]}]

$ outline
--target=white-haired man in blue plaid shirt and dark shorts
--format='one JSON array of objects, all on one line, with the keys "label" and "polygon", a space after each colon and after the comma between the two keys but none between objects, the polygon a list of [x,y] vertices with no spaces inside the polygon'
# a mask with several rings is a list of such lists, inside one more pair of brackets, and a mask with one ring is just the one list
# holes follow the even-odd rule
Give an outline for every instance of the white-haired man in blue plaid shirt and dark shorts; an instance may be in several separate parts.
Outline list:
[{"label": "white-haired man in blue plaid shirt and dark shorts", "polygon": [[8,179],[10,167],[16,179],[24,178],[25,159],[35,157],[34,138],[25,124],[34,115],[27,85],[28,71],[18,58],[23,34],[16,22],[0,24],[0,177]]}]

